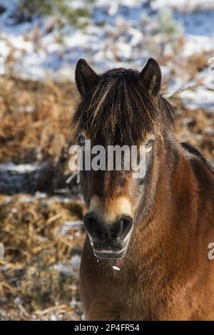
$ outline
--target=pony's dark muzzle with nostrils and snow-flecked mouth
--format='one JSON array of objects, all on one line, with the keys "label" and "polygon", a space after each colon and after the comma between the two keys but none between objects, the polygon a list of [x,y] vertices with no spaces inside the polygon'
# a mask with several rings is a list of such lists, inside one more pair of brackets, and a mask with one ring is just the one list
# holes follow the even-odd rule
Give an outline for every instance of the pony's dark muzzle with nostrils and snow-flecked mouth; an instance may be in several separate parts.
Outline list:
[{"label": "pony's dark muzzle with nostrils and snow-flecked mouth", "polygon": [[118,259],[126,254],[133,227],[132,217],[121,215],[114,222],[106,223],[94,212],[88,212],[83,221],[96,257]]}]

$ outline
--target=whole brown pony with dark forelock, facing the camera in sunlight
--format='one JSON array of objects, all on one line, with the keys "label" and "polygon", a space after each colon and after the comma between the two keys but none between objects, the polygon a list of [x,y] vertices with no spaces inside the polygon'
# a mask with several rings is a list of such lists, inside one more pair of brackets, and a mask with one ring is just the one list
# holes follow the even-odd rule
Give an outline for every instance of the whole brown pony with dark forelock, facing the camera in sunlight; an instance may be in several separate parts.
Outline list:
[{"label": "whole brown pony with dark forelock, facing the camera in sunlight", "polygon": [[87,320],[214,319],[213,168],[179,143],[161,69],[113,68],[98,75],[80,59],[73,140],[143,145],[146,174],[83,170],[88,212],[80,269]]}]

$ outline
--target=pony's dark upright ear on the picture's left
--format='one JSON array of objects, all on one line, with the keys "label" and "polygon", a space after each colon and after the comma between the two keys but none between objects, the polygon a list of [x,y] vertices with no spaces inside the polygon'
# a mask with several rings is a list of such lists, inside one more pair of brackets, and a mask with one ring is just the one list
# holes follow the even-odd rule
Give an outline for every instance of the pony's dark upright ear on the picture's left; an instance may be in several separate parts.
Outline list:
[{"label": "pony's dark upright ear on the picture's left", "polygon": [[76,64],[75,81],[81,96],[84,96],[98,82],[98,78],[98,74],[92,70],[85,59],[79,59]]}]

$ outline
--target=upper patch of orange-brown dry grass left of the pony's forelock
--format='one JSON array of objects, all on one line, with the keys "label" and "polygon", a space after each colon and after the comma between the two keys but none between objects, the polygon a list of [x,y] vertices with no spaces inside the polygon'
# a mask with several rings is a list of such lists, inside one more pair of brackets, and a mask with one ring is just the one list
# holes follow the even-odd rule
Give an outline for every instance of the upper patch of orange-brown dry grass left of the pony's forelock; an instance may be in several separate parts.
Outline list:
[{"label": "upper patch of orange-brown dry grass left of the pony's forelock", "polygon": [[0,92],[0,161],[57,160],[68,147],[73,85],[0,77]]}]

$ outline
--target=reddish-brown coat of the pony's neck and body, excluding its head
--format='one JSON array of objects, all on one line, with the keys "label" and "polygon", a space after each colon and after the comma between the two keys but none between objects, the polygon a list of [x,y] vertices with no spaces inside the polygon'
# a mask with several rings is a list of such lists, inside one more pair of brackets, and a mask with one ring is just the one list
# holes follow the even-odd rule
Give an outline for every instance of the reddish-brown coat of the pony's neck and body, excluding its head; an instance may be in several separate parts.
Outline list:
[{"label": "reddish-brown coat of the pony's neck and body, excluding its head", "polygon": [[200,158],[180,148],[175,173],[160,177],[146,220],[133,231],[125,259],[97,259],[86,238],[81,260],[86,319],[214,319],[214,260],[208,260],[214,175]]}]

